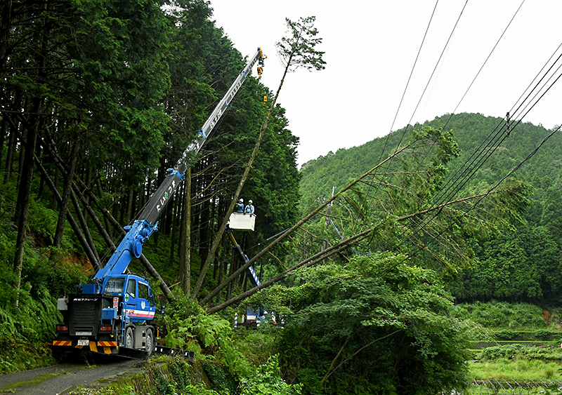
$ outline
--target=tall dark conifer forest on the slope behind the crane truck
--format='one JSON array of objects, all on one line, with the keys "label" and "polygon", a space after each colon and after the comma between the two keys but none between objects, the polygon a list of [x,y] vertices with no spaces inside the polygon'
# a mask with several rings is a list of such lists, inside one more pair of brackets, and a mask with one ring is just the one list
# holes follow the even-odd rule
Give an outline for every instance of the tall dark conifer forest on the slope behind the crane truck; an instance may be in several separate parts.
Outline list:
[{"label": "tall dark conifer forest on the slope behind the crane truck", "polygon": [[[209,3],[173,5],[2,4],[0,339],[52,338],[60,320],[53,297],[74,292],[105,265],[122,226],[136,218],[244,67],[211,21]],[[155,287],[181,281],[176,288],[189,293],[197,281],[266,119],[267,95],[258,79],[247,79],[194,158],[190,182],[159,217],[145,250],[163,279]],[[254,200],[261,219],[256,232],[240,235],[244,247],[295,220],[288,207],[299,199],[298,139],[286,126],[284,109],[273,108],[241,194]],[[230,251],[219,245],[202,293],[227,267],[235,269]],[[138,260],[129,269],[154,274]]]}]

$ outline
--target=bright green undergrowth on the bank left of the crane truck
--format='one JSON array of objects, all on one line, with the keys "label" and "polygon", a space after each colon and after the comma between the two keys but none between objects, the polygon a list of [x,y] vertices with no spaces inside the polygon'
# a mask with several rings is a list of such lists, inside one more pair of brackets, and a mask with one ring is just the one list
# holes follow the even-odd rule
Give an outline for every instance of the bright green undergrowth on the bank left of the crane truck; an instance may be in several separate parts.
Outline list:
[{"label": "bright green undergrowth on the bank left of the crane truck", "polygon": [[[2,196],[11,203],[15,200],[14,186],[15,181],[11,181],[2,189]],[[74,290],[75,285],[85,279],[81,265],[71,262],[73,258],[81,258],[70,243],[61,248],[49,246],[56,215],[43,203],[33,199],[30,204],[30,232],[25,241],[22,286],[18,293],[17,308],[13,306],[14,290],[8,285],[15,279],[13,256],[16,229],[6,212],[0,215],[0,277],[4,279],[4,286],[0,287],[0,342],[6,346],[24,340],[34,344],[50,342],[55,335],[55,325],[62,321],[56,309],[56,297]],[[13,205],[7,204],[5,209],[13,210]],[[2,356],[3,369],[32,368],[42,366],[41,361],[53,361],[46,348],[38,348],[47,354],[43,360],[38,357],[37,350],[30,348],[32,351],[28,352],[27,348],[23,349],[25,351],[18,358],[11,354]]]}]

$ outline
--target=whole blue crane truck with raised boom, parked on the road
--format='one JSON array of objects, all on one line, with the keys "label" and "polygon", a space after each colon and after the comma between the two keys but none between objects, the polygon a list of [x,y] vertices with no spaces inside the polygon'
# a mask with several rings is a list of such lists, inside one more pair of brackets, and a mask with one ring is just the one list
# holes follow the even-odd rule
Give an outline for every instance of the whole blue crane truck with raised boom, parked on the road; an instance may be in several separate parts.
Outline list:
[{"label": "whole blue crane truck with raised boom, parked on the road", "polygon": [[152,352],[170,352],[156,347],[156,301],[148,279],[126,273],[127,267],[133,257],[141,257],[144,244],[157,232],[159,215],[181,185],[189,162],[200,151],[256,62],[261,78],[264,58],[258,48],[205,121],[198,138],[185,149],[176,166],[168,169],[166,178],[139,219],[124,228],[127,233],[107,264],[89,283],[79,284],[76,293],[58,299],[63,323],[56,326],[53,347],[86,347],[92,352],[133,358],[149,356]]}]

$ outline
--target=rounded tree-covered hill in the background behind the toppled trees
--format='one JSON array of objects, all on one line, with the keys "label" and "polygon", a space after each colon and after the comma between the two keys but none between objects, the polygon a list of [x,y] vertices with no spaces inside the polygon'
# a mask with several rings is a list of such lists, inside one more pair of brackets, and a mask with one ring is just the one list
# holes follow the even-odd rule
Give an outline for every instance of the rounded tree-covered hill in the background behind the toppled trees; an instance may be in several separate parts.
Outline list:
[{"label": "rounded tree-covered hill in the background behind the toppled trees", "polygon": [[[504,125],[504,119],[482,114],[445,115],[424,124],[452,130],[459,145],[459,156],[447,165],[447,179],[462,174],[477,150],[490,152],[485,161],[472,164],[476,173],[464,182],[462,191],[495,185],[520,163],[521,167],[509,178],[522,180],[532,187],[532,193],[527,195],[530,205],[525,208],[523,222],[515,227],[503,227],[491,237],[473,236],[471,244],[476,247],[478,259],[473,262],[473,269],[450,279],[450,290],[458,300],[525,300],[559,305],[562,303],[559,296],[562,293],[559,253],[562,225],[558,209],[562,192],[562,135],[554,133],[542,144],[554,129],[512,121],[512,126],[516,126],[509,137],[491,152],[485,142]],[[408,126],[407,130],[420,127]],[[301,208],[307,210],[315,206],[319,199],[327,199],[332,194],[333,186],[337,192],[349,180],[377,165],[379,159],[386,159],[398,147],[404,132],[404,129],[397,130],[388,140],[377,138],[360,147],[340,149],[335,154],[330,152],[305,163],[301,169]],[[386,147],[385,152],[382,152],[383,147]]]}]

